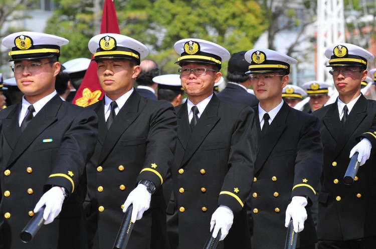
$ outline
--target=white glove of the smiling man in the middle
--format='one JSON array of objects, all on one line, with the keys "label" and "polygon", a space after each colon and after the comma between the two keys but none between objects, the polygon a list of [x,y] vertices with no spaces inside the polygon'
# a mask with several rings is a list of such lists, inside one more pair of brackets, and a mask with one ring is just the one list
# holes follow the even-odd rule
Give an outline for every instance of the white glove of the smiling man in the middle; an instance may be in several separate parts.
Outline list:
[{"label": "white glove of the smiling man in the middle", "polygon": [[210,220],[210,230],[213,229],[213,237],[216,238],[218,235],[218,231],[221,229],[221,238],[220,240],[224,240],[231,226],[233,225],[234,221],[234,214],[230,207],[225,205],[220,205],[217,210],[214,211],[212,215],[212,219]]}]

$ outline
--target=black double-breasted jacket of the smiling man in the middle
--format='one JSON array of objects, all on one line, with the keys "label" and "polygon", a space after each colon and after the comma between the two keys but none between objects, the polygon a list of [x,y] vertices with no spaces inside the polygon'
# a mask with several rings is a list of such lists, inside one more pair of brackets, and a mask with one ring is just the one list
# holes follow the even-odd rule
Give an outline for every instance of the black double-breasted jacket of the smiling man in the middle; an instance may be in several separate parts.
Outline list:
[{"label": "black double-breasted jacket of the smiling man in the middle", "polygon": [[220,101],[214,94],[192,134],[186,103],[176,107],[176,116],[178,139],[171,171],[179,249],[204,246],[219,205],[230,207],[235,218],[225,244],[217,248],[249,248],[244,203],[257,144],[253,109]]}]

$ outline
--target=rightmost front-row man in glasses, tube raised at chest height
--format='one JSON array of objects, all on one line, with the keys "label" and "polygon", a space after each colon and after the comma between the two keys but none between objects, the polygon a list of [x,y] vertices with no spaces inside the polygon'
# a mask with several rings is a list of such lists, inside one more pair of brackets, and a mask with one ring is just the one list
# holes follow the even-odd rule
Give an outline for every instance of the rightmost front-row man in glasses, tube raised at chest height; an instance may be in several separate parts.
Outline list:
[{"label": "rightmost front-row man in glasses, tube raised at chest height", "polygon": [[[360,92],[373,55],[348,43],[328,47],[337,100],[313,114],[321,121],[323,181],[318,197],[318,248],[376,248],[376,102]],[[350,157],[360,168],[352,185],[342,181]]]}]

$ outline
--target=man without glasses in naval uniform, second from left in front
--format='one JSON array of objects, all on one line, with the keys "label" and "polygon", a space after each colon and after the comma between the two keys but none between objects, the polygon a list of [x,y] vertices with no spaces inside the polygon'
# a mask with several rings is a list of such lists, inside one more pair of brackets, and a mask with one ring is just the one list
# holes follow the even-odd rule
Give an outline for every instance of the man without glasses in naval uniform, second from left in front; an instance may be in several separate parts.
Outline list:
[{"label": "man without glasses in naval uniform, second from left in front", "polygon": [[[104,98],[90,105],[99,118],[94,156],[87,165],[91,248],[111,248],[132,203],[129,248],[169,248],[162,183],[173,159],[176,116],[165,101],[141,97],[133,87],[147,47],[131,37],[103,33],[89,49]],[[142,218],[141,218],[142,217]]]}]

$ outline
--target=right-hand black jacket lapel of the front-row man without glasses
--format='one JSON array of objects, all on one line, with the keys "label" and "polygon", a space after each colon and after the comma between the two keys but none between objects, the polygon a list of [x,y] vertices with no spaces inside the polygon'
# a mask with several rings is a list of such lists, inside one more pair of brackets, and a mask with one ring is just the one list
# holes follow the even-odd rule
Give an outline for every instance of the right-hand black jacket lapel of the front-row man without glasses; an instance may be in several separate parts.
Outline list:
[{"label": "right-hand black jacket lapel of the front-row man without glasses", "polygon": [[[114,121],[110,126],[110,129],[108,130],[108,132],[106,132],[107,135],[103,141],[103,148],[98,160],[99,163],[102,163],[103,160],[108,156],[124,131],[129,127],[131,123],[133,123],[133,121],[142,111],[143,106],[140,101],[140,95],[136,92],[135,89],[133,89],[132,94],[129,96],[124,106],[120,109],[119,113],[117,113]],[[106,126],[105,128],[107,129]]]}]

